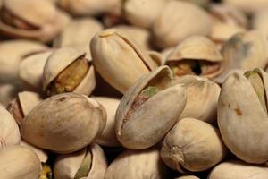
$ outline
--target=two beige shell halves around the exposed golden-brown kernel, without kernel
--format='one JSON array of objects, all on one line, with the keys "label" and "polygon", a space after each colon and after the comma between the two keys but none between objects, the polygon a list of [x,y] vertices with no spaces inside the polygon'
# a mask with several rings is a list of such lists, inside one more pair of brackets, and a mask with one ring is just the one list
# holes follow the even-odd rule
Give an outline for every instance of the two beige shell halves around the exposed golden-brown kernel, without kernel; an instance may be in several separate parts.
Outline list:
[{"label": "two beige shell halves around the exposed golden-brown kernel, without kernel", "polygon": [[[86,55],[85,51],[73,48],[63,47],[54,52],[47,58],[43,72],[43,90],[54,81],[60,72],[77,60],[80,56]],[[89,95],[96,86],[95,72],[93,65],[89,66],[88,73],[72,92]]]}]

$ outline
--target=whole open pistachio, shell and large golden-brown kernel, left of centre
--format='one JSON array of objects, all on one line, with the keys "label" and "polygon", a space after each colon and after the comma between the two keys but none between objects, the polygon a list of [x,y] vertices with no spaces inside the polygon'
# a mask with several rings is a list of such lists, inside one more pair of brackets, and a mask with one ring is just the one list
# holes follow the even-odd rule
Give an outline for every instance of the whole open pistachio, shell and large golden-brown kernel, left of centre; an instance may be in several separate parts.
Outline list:
[{"label": "whole open pistachio, shell and large golden-brown kernel, left of centre", "polygon": [[83,50],[63,47],[47,58],[43,72],[43,90],[47,96],[63,92],[89,95],[94,90],[94,67],[85,55]]}]

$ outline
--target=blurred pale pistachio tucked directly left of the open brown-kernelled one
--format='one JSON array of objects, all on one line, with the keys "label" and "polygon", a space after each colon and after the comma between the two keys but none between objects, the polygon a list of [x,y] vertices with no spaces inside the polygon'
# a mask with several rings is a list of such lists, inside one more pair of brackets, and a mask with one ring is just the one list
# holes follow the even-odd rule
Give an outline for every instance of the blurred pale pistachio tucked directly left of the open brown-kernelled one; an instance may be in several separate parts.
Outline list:
[{"label": "blurred pale pistachio tucked directly left of the open brown-kernelled one", "polygon": [[52,52],[40,52],[23,58],[19,66],[19,77],[21,81],[26,82],[37,90],[41,89],[46,60]]}]

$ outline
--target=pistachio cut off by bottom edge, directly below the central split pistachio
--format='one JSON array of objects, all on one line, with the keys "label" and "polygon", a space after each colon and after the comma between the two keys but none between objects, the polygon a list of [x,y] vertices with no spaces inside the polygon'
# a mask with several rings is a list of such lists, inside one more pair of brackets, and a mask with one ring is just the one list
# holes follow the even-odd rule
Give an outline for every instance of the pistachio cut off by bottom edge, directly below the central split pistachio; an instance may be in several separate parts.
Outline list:
[{"label": "pistachio cut off by bottom edge, directly below the central split pistachio", "polygon": [[171,178],[159,150],[126,150],[115,158],[107,169],[105,179]]}]

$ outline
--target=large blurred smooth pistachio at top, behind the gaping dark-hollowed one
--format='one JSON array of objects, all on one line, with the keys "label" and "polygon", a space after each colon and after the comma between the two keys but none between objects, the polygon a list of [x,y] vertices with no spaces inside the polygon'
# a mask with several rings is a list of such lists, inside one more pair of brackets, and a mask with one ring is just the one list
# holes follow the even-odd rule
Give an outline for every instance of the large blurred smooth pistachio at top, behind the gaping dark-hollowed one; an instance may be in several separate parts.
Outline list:
[{"label": "large blurred smooth pistachio at top, behind the gaping dark-hollowed one", "polygon": [[166,48],[176,46],[181,40],[190,36],[208,35],[212,22],[209,13],[195,4],[169,1],[155,20],[154,43],[157,47]]}]

